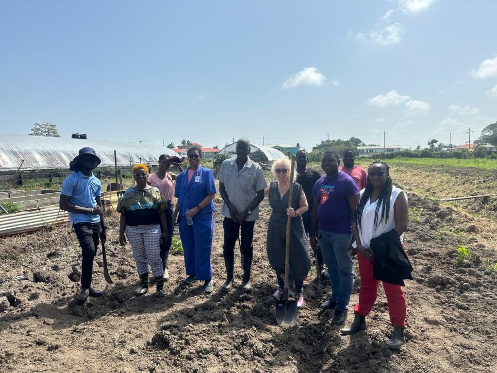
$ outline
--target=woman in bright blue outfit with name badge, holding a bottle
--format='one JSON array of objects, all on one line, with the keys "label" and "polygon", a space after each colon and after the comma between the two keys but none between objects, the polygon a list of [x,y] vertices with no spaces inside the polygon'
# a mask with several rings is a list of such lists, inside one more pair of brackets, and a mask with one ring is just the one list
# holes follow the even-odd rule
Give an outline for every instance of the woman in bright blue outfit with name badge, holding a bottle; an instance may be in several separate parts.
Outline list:
[{"label": "woman in bright blue outfit with name badge, holding a bottle", "polygon": [[[176,178],[174,196],[178,198],[174,217],[179,214],[177,224],[183,244],[186,283],[204,281],[204,292],[210,293],[212,286],[212,213],[216,185],[212,170],[200,166],[202,149],[194,145],[187,151],[190,167]],[[191,220],[190,220],[191,219]],[[191,224],[188,224],[190,220]]]}]

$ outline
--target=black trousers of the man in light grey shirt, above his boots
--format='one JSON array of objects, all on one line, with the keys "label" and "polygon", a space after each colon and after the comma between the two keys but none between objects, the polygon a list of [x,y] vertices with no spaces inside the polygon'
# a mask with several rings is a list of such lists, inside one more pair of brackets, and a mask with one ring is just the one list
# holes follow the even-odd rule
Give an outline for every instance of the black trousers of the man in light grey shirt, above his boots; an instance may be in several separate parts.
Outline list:
[{"label": "black trousers of the man in light grey shirt, above his boots", "polygon": [[244,221],[242,224],[236,224],[233,219],[225,217],[223,220],[224,228],[224,246],[223,255],[225,258],[233,258],[235,256],[235,244],[238,240],[239,229],[242,228],[242,255],[248,260],[252,260],[253,256],[253,226],[255,221]]}]

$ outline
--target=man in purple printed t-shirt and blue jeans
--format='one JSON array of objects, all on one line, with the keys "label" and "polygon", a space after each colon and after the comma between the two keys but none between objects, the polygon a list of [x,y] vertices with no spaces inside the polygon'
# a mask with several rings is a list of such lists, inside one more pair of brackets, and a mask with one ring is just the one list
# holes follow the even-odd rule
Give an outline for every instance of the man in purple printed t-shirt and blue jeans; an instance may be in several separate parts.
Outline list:
[{"label": "man in purple printed t-shirt and blue jeans", "polygon": [[[327,150],[321,159],[326,172],[313,188],[314,209],[311,232],[318,229],[318,237],[311,235],[311,246],[319,240],[331,281],[331,298],[322,308],[335,310],[331,325],[343,325],[347,305],[354,284],[352,256],[348,250],[352,240],[352,215],[359,202],[359,188],[355,181],[338,171],[338,153]],[[316,208],[318,206],[318,208]]]}]

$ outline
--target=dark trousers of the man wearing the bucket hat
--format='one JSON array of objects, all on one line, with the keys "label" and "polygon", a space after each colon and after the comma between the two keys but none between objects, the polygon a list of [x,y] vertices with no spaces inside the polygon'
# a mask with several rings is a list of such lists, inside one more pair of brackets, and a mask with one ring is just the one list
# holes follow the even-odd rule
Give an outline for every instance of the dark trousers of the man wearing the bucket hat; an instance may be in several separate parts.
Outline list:
[{"label": "dark trousers of the man wearing the bucket hat", "polygon": [[76,223],[73,224],[73,228],[80,241],[82,252],[81,287],[86,289],[91,285],[93,258],[100,238],[100,223]]}]

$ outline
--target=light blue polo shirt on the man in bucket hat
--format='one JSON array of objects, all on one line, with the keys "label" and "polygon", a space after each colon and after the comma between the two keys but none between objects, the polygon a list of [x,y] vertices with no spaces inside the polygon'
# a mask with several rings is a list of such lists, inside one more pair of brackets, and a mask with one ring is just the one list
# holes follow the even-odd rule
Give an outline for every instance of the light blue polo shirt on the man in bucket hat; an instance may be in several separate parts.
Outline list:
[{"label": "light blue polo shirt on the man in bucket hat", "polygon": [[[81,207],[95,207],[95,197],[102,195],[102,183],[95,178],[93,173],[90,177],[84,176],[81,171],[73,172],[62,183],[61,194],[70,196],[70,203]],[[69,212],[71,223],[98,223],[100,215],[88,213]]]}]

